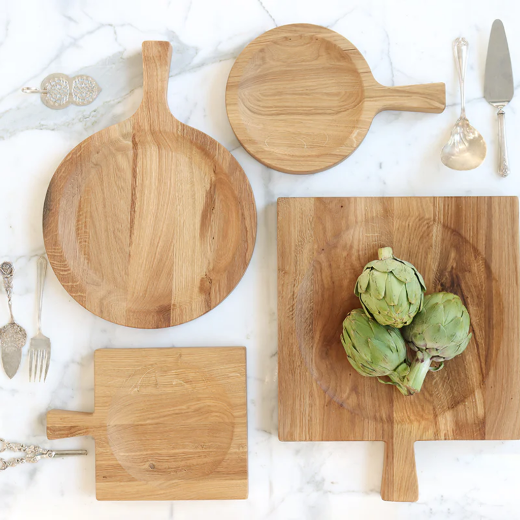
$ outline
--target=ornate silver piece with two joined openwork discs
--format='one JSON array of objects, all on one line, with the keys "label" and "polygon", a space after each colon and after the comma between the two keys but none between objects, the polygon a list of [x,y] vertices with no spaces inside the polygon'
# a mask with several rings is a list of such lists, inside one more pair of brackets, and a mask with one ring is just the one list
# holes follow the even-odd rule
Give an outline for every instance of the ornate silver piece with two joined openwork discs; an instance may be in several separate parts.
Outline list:
[{"label": "ornate silver piece with two joined openwork discs", "polygon": [[46,107],[61,110],[69,105],[90,105],[98,97],[101,88],[92,77],[85,74],[69,77],[57,73],[47,76],[40,88],[23,87],[22,92],[40,94]]}]

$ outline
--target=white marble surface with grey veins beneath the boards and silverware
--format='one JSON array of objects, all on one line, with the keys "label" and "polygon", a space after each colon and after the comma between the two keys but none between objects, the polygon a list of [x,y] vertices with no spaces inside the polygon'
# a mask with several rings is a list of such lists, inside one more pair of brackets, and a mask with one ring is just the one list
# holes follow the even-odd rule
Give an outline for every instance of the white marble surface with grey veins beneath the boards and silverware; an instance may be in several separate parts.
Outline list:
[{"label": "white marble surface with grey veins beneath the boards and silverware", "polygon": [[[456,6],[454,5],[456,4]],[[230,149],[248,174],[258,208],[251,265],[211,313],[158,331],[126,329],[90,315],[47,277],[44,330],[53,342],[47,383],[30,385],[24,363],[0,372],[0,435],[46,446],[84,447],[85,459],[44,461],[0,474],[0,519],[26,518],[520,518],[520,442],[417,443],[419,502],[380,498],[381,443],[280,443],[277,437],[276,199],[281,196],[520,194],[520,93],[507,109],[512,174],[495,174],[495,110],[483,99],[491,23],[504,21],[520,78],[515,0],[137,0],[0,2],[0,258],[15,262],[15,315],[35,333],[35,261],[44,251],[42,206],[63,156],[88,135],[131,115],[141,98],[140,45],[173,47],[168,101],[185,123]],[[233,59],[254,37],[291,22],[326,25],[351,40],[381,83],[445,81],[443,114],[378,115],[359,149],[326,172],[291,176],[257,163],[226,118]],[[459,111],[451,42],[470,41],[467,113],[488,143],[473,172],[441,165],[439,150]],[[93,105],[49,110],[20,93],[51,72],[91,74],[103,88]],[[151,274],[152,275],[152,274]],[[0,294],[0,321],[7,321]],[[93,407],[93,352],[100,347],[245,345],[248,348],[249,499],[223,502],[97,502],[94,441],[51,443],[50,408]],[[27,352],[27,347],[26,351]]]}]

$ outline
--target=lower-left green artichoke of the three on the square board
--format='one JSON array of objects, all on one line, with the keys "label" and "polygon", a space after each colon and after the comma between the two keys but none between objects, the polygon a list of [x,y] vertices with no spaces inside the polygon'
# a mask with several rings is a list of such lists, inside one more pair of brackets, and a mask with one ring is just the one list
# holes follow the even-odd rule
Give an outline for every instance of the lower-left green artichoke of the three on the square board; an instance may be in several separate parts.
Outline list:
[{"label": "lower-left green artichoke of the three on the square board", "polygon": [[409,371],[406,344],[401,333],[383,327],[365,314],[363,309],[351,311],[343,321],[341,343],[347,358],[361,375],[381,378],[387,375],[401,393],[409,395],[402,381]]}]

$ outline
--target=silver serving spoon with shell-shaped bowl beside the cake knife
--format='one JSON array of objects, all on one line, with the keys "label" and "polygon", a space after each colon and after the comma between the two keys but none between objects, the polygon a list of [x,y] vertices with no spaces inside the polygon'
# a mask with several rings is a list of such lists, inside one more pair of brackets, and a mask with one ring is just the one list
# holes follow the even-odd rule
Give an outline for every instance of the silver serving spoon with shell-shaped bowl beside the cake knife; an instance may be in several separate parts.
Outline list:
[{"label": "silver serving spoon with shell-shaped bowl beside the cake knife", "polygon": [[460,85],[460,117],[453,126],[450,140],[440,151],[440,160],[452,170],[473,170],[486,158],[486,142],[466,118],[464,76],[467,63],[467,40],[457,38],[453,42],[453,54],[457,64]]}]

